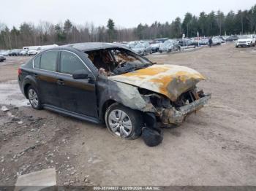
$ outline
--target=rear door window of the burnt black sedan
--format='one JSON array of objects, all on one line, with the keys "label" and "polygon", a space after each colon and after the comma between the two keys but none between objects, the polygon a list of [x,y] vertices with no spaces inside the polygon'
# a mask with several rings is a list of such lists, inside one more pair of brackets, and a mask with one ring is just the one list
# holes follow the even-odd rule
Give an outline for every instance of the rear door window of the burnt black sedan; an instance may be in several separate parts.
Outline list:
[{"label": "rear door window of the burnt black sedan", "polygon": [[58,50],[44,52],[41,55],[40,69],[48,71],[56,71],[56,61],[58,58]]}]

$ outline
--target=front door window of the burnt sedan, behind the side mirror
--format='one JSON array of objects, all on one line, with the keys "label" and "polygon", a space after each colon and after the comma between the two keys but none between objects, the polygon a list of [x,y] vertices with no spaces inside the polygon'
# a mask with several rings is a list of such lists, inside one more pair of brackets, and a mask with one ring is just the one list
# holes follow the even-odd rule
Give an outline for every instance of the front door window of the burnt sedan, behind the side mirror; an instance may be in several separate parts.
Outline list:
[{"label": "front door window of the burnt sedan, behind the side mirror", "polygon": [[72,52],[61,51],[60,72],[64,74],[74,74],[77,70],[86,70],[83,62]]}]

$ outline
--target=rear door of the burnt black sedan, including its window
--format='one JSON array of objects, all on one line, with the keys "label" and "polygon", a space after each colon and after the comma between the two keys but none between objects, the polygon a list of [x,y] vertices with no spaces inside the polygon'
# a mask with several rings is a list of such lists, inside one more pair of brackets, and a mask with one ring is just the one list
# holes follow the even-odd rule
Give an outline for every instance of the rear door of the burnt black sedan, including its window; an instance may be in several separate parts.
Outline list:
[{"label": "rear door of the burnt black sedan, including its window", "polygon": [[59,50],[49,50],[42,52],[34,58],[34,77],[37,79],[39,97],[42,104],[50,104],[59,106],[59,95],[57,91],[57,61],[59,58]]}]

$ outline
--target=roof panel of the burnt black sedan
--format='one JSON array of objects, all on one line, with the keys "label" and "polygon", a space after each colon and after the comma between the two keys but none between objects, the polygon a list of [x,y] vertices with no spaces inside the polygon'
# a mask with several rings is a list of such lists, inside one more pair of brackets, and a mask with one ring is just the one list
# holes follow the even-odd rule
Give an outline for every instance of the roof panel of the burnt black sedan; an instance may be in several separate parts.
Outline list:
[{"label": "roof panel of the burnt black sedan", "polygon": [[124,48],[124,49],[129,49],[123,44],[114,44],[114,43],[106,43],[106,42],[83,42],[83,43],[75,43],[75,44],[65,44],[60,47],[72,47],[77,50],[86,52],[86,51],[91,51],[91,50],[101,50],[101,49],[108,49],[108,48]]}]

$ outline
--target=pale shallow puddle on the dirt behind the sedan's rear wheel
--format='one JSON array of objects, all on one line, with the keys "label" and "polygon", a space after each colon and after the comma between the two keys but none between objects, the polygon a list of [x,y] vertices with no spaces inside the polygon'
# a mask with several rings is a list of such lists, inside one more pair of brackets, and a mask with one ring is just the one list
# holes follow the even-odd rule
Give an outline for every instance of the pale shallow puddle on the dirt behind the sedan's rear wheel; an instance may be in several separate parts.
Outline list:
[{"label": "pale shallow puddle on the dirt behind the sedan's rear wheel", "polygon": [[0,104],[28,106],[29,101],[21,93],[17,80],[0,83]]}]

